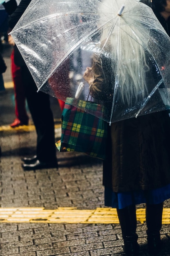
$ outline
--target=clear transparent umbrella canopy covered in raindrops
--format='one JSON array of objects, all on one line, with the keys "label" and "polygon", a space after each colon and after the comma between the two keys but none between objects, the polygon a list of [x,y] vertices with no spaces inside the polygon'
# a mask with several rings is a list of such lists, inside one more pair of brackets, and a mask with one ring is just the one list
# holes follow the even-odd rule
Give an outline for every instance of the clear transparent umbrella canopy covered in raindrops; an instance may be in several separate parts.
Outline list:
[{"label": "clear transparent umbrella canopy covered in raindrops", "polygon": [[137,0],[32,0],[11,35],[38,90],[110,123],[170,105],[170,38]]}]

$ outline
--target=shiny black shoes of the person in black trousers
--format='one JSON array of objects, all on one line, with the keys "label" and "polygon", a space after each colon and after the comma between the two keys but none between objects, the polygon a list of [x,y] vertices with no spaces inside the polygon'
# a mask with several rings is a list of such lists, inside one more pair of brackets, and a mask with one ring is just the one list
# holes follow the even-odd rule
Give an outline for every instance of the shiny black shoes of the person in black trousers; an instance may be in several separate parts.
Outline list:
[{"label": "shiny black shoes of the person in black trousers", "polygon": [[48,169],[48,168],[58,168],[57,162],[40,162],[36,160],[33,164],[22,164],[22,168],[25,171],[36,170],[36,169]]}]

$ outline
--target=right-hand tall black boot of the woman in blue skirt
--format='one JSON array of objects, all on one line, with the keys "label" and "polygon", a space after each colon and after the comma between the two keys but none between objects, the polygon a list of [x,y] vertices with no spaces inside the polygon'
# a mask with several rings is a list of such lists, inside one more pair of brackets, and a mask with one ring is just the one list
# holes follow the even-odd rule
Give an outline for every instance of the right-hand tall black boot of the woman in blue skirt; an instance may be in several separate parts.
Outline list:
[{"label": "right-hand tall black boot of the woman in blue skirt", "polygon": [[148,252],[157,255],[162,249],[160,230],[162,227],[163,203],[146,204],[146,225]]}]

